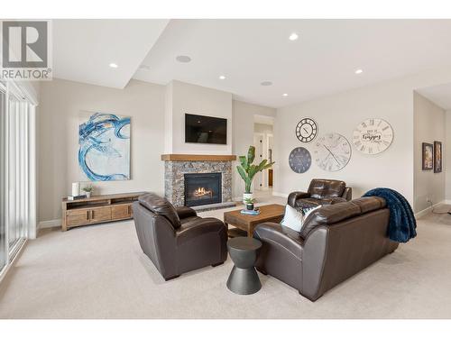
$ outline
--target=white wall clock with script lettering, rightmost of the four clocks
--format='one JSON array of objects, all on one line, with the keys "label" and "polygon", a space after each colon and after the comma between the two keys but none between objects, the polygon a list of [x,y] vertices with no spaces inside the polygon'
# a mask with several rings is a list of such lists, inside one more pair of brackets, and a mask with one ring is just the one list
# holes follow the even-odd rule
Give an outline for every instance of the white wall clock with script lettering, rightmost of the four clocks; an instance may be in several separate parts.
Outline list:
[{"label": "white wall clock with script lettering, rightmost of the four clocks", "polygon": [[368,119],[359,123],[354,130],[353,143],[358,151],[365,154],[378,154],[390,147],[393,142],[393,129],[382,119]]}]

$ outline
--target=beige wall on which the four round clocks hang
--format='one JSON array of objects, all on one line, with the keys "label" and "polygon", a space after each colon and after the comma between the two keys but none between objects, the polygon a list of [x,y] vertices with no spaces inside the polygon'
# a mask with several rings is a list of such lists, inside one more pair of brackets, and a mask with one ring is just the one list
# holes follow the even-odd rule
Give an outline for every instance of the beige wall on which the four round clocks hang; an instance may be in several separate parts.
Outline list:
[{"label": "beige wall on which the four round clocks hang", "polygon": [[[392,79],[278,109],[274,129],[276,143],[274,192],[281,195],[305,190],[312,178],[343,179],[354,189],[354,197],[373,187],[391,187],[414,202],[413,91],[451,82],[451,69],[433,69],[417,75]],[[327,172],[314,163],[304,174],[294,173],[288,164],[290,151],[301,145],[294,128],[302,117],[313,117],[319,133],[339,132],[352,141],[357,123],[380,117],[391,123],[391,147],[377,155],[365,155],[352,145],[352,157],[345,169]],[[312,143],[305,144],[312,152]],[[315,160],[315,159],[313,159]]]}]

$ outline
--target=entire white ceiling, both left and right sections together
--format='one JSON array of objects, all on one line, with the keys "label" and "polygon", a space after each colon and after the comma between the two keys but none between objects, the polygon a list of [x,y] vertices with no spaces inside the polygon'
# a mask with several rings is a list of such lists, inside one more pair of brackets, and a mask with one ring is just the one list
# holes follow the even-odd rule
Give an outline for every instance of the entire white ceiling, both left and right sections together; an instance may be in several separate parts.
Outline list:
[{"label": "entire white ceiling, both left and right sections together", "polygon": [[451,20],[54,20],[53,76],[118,88],[178,79],[280,107],[449,65],[450,35]]}]

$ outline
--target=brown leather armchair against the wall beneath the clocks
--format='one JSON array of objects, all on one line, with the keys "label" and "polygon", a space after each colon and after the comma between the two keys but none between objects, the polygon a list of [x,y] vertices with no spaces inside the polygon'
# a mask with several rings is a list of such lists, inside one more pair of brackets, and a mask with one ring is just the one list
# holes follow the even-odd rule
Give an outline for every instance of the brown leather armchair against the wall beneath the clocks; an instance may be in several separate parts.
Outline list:
[{"label": "brown leather armchair against the wall beneath the clocks", "polygon": [[333,205],[350,201],[353,189],[346,187],[344,181],[336,179],[312,179],[308,191],[294,191],[288,196],[288,204],[292,207],[312,207]]}]

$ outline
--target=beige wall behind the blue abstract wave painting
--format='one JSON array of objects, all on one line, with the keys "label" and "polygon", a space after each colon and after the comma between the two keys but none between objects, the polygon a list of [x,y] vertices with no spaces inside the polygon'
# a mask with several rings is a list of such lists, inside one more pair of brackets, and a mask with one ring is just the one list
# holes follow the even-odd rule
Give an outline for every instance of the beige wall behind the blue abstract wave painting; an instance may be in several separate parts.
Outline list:
[{"label": "beige wall behind the blue abstract wave painting", "polygon": [[59,219],[60,200],[78,169],[80,111],[131,116],[131,175],[128,181],[94,182],[96,193],[163,192],[164,87],[132,80],[124,89],[60,79],[42,82],[38,115],[39,220]]}]

